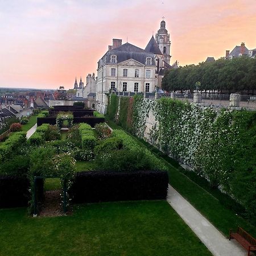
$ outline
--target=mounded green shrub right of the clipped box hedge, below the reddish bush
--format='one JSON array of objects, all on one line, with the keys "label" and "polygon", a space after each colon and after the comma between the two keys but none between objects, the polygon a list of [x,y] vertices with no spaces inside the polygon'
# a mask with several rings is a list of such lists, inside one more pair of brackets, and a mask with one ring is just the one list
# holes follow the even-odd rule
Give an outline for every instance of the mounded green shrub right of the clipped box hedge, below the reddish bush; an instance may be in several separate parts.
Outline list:
[{"label": "mounded green shrub right of the clipped box hedge, below the reddish bush", "polygon": [[119,138],[108,138],[100,142],[95,148],[94,152],[96,155],[102,153],[108,153],[113,150],[120,150],[123,147],[123,142]]}]

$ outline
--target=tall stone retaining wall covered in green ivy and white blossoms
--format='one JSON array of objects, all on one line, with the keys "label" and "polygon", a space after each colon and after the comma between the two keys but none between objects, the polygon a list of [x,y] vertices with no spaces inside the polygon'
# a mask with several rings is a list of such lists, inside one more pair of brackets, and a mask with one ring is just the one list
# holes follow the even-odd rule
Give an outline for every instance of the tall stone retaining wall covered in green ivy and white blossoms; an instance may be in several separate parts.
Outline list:
[{"label": "tall stone retaining wall covered in green ivy and white blossoms", "polygon": [[[186,164],[256,216],[256,112],[110,96],[109,118]],[[118,106],[119,102],[119,106]]]}]

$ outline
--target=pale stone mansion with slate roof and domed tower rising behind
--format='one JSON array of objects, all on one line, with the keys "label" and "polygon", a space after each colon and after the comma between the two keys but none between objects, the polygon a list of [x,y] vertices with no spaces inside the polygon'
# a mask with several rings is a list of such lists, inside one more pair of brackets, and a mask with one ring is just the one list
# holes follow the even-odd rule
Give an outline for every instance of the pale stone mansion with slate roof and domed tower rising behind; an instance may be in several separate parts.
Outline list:
[{"label": "pale stone mansion with slate roof and domed tower rising behind", "polygon": [[145,49],[113,39],[113,45],[98,61],[97,110],[106,113],[106,94],[112,91],[152,93],[160,88],[164,71],[172,68],[170,46],[170,34],[164,20]]}]

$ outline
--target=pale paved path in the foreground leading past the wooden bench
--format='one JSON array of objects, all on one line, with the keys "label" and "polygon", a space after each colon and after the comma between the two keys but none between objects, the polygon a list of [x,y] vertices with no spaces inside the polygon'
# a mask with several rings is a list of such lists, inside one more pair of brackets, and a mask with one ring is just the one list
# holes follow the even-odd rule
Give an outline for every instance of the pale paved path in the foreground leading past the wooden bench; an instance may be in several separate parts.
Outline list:
[{"label": "pale paved path in the foreground leading past the wooden bench", "polygon": [[171,185],[168,187],[167,201],[214,256],[247,255],[242,246],[234,240],[229,241],[225,238]]}]

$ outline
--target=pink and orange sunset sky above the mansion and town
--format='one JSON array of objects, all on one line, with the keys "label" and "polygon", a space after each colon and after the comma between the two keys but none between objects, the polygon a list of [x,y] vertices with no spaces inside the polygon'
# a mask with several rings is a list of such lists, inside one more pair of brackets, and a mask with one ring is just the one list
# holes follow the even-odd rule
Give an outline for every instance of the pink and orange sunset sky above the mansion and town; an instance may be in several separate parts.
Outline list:
[{"label": "pink and orange sunset sky above the mansion and town", "polygon": [[0,87],[71,89],[113,38],[144,49],[163,16],[170,64],[256,48],[256,0],[0,0]]}]

